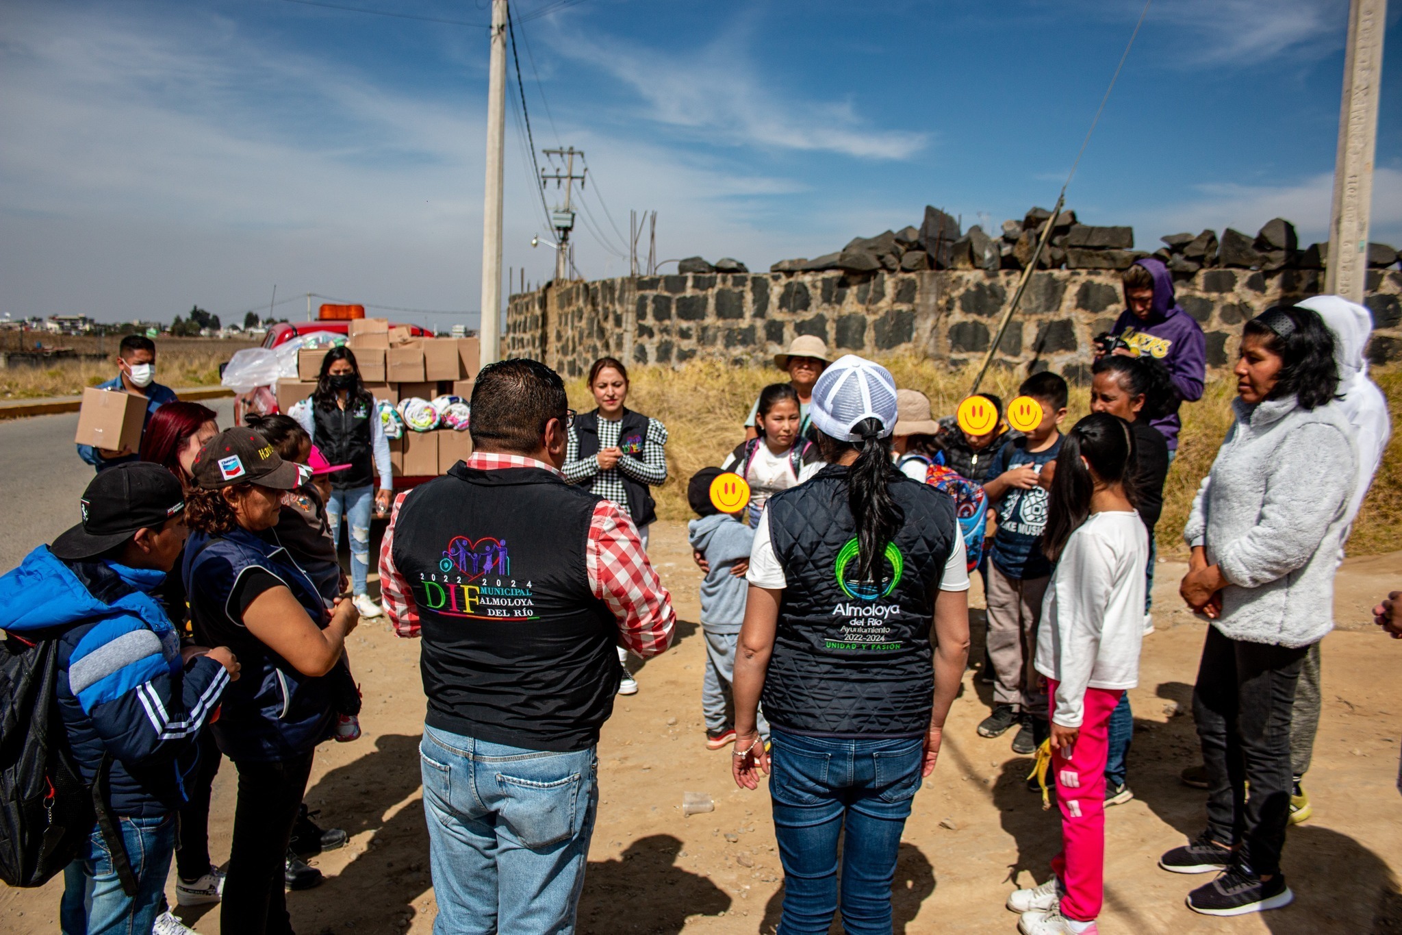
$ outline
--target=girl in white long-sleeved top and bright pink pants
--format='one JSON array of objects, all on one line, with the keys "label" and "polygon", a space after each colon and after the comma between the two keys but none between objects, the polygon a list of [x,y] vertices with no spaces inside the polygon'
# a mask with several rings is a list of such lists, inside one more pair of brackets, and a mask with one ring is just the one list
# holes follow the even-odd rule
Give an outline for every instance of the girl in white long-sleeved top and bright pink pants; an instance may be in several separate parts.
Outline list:
[{"label": "girl in white long-sleeved top and bright pink pants", "polygon": [[1047,678],[1061,854],[1046,883],[1016,890],[1026,935],[1095,932],[1105,878],[1105,758],[1110,712],[1138,684],[1148,537],[1130,481],[1134,435],[1108,412],[1061,442],[1042,548],[1056,562],[1037,628]]}]

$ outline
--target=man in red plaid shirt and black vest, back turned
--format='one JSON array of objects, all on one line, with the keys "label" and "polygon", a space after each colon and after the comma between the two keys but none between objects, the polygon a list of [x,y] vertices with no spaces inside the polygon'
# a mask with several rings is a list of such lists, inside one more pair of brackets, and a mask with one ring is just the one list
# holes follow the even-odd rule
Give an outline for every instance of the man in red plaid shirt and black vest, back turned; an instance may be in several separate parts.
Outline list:
[{"label": "man in red plaid shirt and black vest, back turned", "polygon": [[559,472],[572,418],[550,367],[484,367],[474,454],[400,495],[380,547],[386,613],[423,638],[443,931],[573,931],[614,646],[649,657],[672,643],[672,597],[632,520]]}]

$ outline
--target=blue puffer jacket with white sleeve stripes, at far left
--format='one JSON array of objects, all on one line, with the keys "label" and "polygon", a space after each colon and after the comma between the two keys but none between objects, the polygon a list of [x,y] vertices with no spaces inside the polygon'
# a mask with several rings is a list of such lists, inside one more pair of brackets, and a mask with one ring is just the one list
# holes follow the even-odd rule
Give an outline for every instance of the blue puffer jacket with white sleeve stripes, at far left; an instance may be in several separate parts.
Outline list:
[{"label": "blue puffer jacket with white sleeve stripes, at far left", "polygon": [[63,562],[48,545],[0,578],[0,628],[66,628],[59,643],[59,711],[73,760],[93,782],[114,757],[112,812],[158,817],[185,802],[196,737],[229,673],[213,659],[181,666],[179,636],[151,599],[165,575],[115,562]]}]

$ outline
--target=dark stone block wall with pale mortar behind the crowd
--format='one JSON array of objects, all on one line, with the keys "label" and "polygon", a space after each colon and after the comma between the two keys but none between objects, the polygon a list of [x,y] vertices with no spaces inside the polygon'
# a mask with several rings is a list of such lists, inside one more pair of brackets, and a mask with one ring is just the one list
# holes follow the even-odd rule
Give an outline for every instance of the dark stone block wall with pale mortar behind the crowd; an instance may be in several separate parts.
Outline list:
[{"label": "dark stone block wall with pale mortar behind the crowd", "polygon": [[[834,353],[910,352],[958,367],[980,362],[1022,273],[771,272],[635,276],[547,285],[512,296],[508,356],[544,360],[568,377],[610,355],[679,366],[693,359],[753,364],[796,335]],[[1280,301],[1316,294],[1315,269],[1202,269],[1179,273],[1178,301],[1207,332],[1209,367],[1225,367],[1241,324]],[[1367,304],[1375,363],[1402,359],[1402,272],[1370,271]],[[1033,275],[998,348],[998,366],[1050,367],[1084,377],[1095,335],[1123,308],[1119,272],[1049,269]]]}]

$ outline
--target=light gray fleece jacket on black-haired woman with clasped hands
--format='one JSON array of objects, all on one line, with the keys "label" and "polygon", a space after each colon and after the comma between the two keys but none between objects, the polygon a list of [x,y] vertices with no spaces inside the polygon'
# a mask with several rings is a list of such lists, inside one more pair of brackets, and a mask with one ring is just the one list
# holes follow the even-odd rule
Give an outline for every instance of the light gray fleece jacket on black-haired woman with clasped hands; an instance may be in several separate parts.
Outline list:
[{"label": "light gray fleece jacket on black-haired woman with clasped hands", "polygon": [[1231,639],[1308,646],[1333,629],[1333,573],[1357,478],[1349,422],[1335,404],[1294,397],[1232,402],[1183,538],[1204,545],[1231,585],[1213,625]]}]

